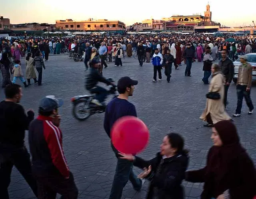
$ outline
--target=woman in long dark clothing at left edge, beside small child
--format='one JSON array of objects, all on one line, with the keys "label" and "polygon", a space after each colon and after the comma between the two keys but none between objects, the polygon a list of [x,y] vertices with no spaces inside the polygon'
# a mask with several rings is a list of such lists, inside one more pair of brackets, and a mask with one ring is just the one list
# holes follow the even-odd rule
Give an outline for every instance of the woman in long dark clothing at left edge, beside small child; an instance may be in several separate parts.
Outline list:
[{"label": "woman in long dark clothing at left edge, beside small child", "polygon": [[6,87],[8,84],[11,84],[10,80],[10,71],[12,71],[12,65],[8,58],[8,53],[3,53],[2,58],[0,60],[0,71],[3,76],[2,88]]}]

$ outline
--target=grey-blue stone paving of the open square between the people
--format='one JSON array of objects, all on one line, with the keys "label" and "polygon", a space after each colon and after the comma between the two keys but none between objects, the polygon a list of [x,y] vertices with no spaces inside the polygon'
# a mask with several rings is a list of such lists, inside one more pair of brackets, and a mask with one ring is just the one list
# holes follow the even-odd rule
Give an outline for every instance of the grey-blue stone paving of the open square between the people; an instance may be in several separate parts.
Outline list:
[{"label": "grey-blue stone paving of the open square between the people", "polygon": [[[38,109],[38,101],[46,95],[55,95],[64,99],[64,105],[60,108],[62,121],[60,128],[63,132],[64,152],[74,173],[74,179],[79,189],[79,198],[105,199],[110,194],[116,158],[110,148],[110,140],[104,132],[104,113],[95,114],[88,120],[80,122],[72,116],[70,98],[86,93],[84,88],[83,62],[74,62],[67,59],[66,55],[52,55],[46,62],[46,70],[43,71],[43,86],[32,84],[23,89],[21,104],[27,110]],[[122,59],[123,67],[114,67],[109,63],[107,69],[103,69],[105,77],[112,77],[116,81],[123,76],[130,76],[139,81],[130,101],[136,106],[137,114],[150,130],[150,142],[140,157],[149,160],[154,158],[159,151],[162,138],[169,132],[177,132],[185,139],[185,147],[190,150],[189,169],[202,168],[206,163],[208,149],[212,146],[210,139],[211,129],[203,127],[199,119],[202,114],[208,92],[208,85],[201,81],[203,77],[202,62],[192,64],[192,77],[185,77],[185,65],[180,70],[172,70],[171,83],[166,82],[162,70],[163,79],[152,83],[153,67],[151,63],[144,63],[139,67],[138,60],[133,57]],[[25,74],[24,59],[22,70]],[[2,81],[2,75],[0,75]],[[33,82],[33,81],[32,81]],[[17,81],[17,83],[20,83]],[[252,101],[256,106],[255,85],[251,91]],[[0,89],[0,99],[4,99],[3,89]],[[236,90],[232,83],[228,92],[229,115],[236,109]],[[248,108],[243,102],[242,115],[235,118],[242,145],[247,149],[250,157],[256,163],[256,113],[248,115]],[[27,137],[26,145],[28,147]],[[135,168],[135,172],[140,170]],[[123,199],[144,199],[146,197],[148,183],[145,183],[142,191],[133,190],[128,183],[123,191]],[[186,199],[199,198],[202,184],[188,183],[184,181]],[[10,198],[29,199],[34,195],[24,181],[22,175],[14,168],[9,187]]]}]

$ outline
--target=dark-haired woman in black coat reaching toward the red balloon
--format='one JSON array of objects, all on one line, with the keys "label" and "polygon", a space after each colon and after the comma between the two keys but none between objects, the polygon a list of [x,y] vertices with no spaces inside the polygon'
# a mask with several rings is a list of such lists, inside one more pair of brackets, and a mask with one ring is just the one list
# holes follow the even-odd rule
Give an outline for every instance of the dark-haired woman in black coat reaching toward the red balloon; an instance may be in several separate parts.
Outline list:
[{"label": "dark-haired woman in black coat reaching toward the red balloon", "polygon": [[156,158],[146,161],[137,156],[122,154],[123,159],[134,162],[134,166],[144,169],[139,178],[150,180],[147,199],[183,199],[182,180],[188,166],[188,156],[183,150],[184,141],[175,133],[164,137],[161,152]]}]

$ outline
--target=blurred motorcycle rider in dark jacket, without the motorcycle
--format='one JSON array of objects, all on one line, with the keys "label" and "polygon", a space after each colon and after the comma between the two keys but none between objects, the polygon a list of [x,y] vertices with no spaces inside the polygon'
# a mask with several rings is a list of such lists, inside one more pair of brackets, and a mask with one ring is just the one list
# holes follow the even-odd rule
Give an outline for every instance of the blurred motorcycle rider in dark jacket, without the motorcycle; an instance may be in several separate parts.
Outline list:
[{"label": "blurred motorcycle rider in dark jacket, without the motorcycle", "polygon": [[114,83],[108,81],[105,77],[100,75],[98,69],[100,68],[100,60],[92,59],[89,74],[86,77],[86,89],[91,93],[96,93],[92,103],[102,106],[102,102],[108,96],[108,91],[100,86],[97,86],[98,82],[106,83],[106,85],[114,85]]}]

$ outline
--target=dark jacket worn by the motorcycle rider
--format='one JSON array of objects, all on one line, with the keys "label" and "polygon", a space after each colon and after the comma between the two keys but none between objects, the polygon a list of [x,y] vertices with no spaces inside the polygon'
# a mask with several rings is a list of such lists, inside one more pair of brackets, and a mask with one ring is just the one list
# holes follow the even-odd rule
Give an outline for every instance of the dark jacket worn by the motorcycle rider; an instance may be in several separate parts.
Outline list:
[{"label": "dark jacket worn by the motorcycle rider", "polygon": [[108,81],[107,79],[105,79],[105,77],[102,77],[100,75],[100,72],[97,69],[95,69],[94,67],[90,67],[89,74],[87,75],[85,82],[86,89],[92,89],[98,84],[98,82],[103,82],[107,85],[111,84],[110,81]]}]

